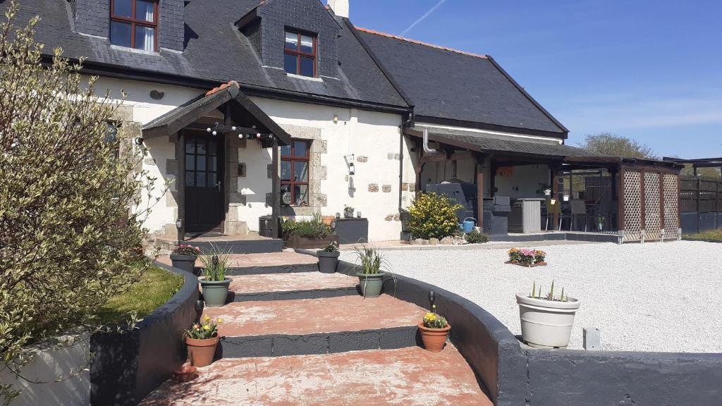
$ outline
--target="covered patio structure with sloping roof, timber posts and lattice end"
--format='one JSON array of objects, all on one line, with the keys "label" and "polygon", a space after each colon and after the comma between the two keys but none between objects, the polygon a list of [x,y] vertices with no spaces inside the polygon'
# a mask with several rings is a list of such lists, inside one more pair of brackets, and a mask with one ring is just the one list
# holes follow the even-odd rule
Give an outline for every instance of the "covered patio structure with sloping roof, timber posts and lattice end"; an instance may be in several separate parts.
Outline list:
[{"label": "covered patio structure with sloping roof, timber posts and lattice end", "polygon": [[[558,193],[558,173],[562,170],[604,168],[609,170],[612,194],[618,204],[617,230],[620,241],[652,241],[679,238],[679,163],[630,157],[614,157],[560,144],[555,140],[521,141],[518,137],[479,134],[478,132],[426,128],[430,142],[439,144],[442,153],[424,153],[423,129],[404,129],[417,144],[417,183],[422,166],[429,162],[469,159],[479,166],[487,158],[495,168],[511,165],[547,164],[552,170],[551,184]],[[482,195],[483,173],[477,173],[477,189]],[[492,179],[493,181],[493,179]],[[479,204],[479,207],[482,205]],[[477,214],[479,223],[483,212]]]}]

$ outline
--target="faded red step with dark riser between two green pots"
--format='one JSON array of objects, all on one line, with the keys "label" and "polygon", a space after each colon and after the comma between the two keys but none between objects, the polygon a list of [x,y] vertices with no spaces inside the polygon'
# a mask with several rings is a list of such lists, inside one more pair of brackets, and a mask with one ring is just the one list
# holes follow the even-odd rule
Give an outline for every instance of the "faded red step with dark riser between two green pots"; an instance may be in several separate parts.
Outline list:
[{"label": "faded red step with dark riser between two green pots", "polygon": [[343,274],[299,272],[231,276],[230,301],[282,301],[357,295],[358,278]]}]

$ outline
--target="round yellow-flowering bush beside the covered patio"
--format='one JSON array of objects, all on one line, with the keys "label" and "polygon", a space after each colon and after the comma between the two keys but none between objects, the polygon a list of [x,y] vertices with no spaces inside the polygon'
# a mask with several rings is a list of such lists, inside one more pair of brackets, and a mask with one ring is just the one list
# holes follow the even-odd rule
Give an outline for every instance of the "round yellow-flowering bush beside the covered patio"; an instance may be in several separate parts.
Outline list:
[{"label": "round yellow-flowering bush beside the covered patio", "polygon": [[444,238],[458,230],[456,211],[461,204],[443,194],[422,193],[409,207],[407,225],[414,238]]}]

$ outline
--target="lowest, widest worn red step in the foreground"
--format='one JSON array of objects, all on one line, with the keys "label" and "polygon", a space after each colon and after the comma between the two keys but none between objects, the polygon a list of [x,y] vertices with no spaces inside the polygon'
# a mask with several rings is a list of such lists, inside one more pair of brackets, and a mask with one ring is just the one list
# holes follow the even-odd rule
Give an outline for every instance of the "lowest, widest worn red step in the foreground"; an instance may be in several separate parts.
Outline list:
[{"label": "lowest, widest worn red step in the foreground", "polygon": [[217,360],[199,378],[166,381],[143,406],[477,405],[490,406],[452,345],[331,355]]}]

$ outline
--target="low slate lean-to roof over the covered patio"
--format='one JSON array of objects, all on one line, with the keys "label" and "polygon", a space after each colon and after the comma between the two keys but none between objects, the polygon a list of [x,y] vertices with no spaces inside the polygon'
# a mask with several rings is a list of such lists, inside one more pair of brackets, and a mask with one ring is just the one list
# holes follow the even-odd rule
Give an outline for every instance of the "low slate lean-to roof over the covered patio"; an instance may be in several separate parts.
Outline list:
[{"label": "low slate lean-to roof over the covered patio", "polygon": [[[423,128],[416,128],[412,131],[416,137],[421,136]],[[609,155],[591,152],[577,147],[560,144],[553,140],[549,142],[535,139],[532,141],[523,141],[521,139],[511,139],[510,137],[500,137],[497,135],[487,135],[474,133],[471,131],[450,131],[443,129],[430,129],[429,139],[443,144],[450,144],[456,147],[466,148],[479,152],[487,152],[492,154],[510,154],[525,155],[529,157],[585,157],[585,158],[611,158]]]}]

